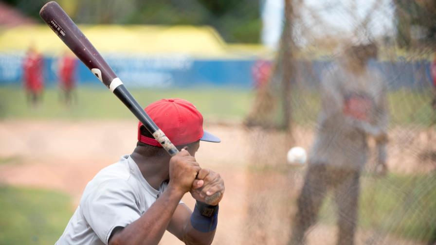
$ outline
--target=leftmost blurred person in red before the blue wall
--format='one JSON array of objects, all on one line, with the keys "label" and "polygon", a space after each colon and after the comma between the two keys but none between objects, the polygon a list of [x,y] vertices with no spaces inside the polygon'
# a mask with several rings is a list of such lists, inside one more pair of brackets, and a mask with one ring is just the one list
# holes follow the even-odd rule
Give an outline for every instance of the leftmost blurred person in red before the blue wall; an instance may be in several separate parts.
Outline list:
[{"label": "leftmost blurred person in red before the blue wall", "polygon": [[42,101],[44,61],[34,46],[30,46],[23,61],[23,80],[27,102],[34,106]]}]

